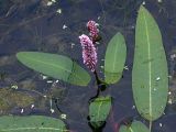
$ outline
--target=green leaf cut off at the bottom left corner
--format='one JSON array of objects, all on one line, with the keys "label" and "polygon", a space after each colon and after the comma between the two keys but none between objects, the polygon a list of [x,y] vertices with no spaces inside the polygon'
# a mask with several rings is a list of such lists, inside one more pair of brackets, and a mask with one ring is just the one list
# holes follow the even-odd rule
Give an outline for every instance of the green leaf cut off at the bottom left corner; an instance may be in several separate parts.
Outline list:
[{"label": "green leaf cut off at the bottom left corner", "polygon": [[59,119],[43,116],[0,117],[0,132],[68,132]]}]

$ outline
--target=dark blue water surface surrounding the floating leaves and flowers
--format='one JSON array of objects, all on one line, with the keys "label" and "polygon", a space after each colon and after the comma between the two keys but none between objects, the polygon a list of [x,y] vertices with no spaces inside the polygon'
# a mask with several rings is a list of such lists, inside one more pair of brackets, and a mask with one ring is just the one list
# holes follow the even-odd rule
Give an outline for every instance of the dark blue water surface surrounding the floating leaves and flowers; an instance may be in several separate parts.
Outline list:
[{"label": "dark blue water surface surrounding the floating leaves and flowers", "polygon": [[[134,50],[134,28],[136,10],[142,0],[58,0],[53,6],[46,6],[47,0],[0,0],[0,87],[18,86],[18,91],[24,92],[29,103],[18,103],[20,99],[10,100],[13,103],[0,103],[1,114],[44,114],[55,118],[59,112],[53,105],[54,113],[50,111],[51,103],[43,96],[59,98],[58,106],[67,114],[67,124],[74,132],[91,132],[87,123],[88,100],[96,95],[95,77],[88,87],[69,86],[59,81],[57,85],[43,80],[38,73],[21,65],[15,54],[21,51],[41,51],[67,55],[81,66],[81,47],[78,36],[88,33],[86,23],[95,20],[100,24],[101,44],[98,46],[99,76],[102,77],[103,57],[107,43],[117,32],[122,32],[127,40],[128,58],[123,78],[105,91],[114,98],[113,121],[110,118],[103,132],[114,132],[113,124],[123,118],[134,117],[146,123],[134,108],[131,90],[131,69]],[[175,132],[175,62],[170,55],[176,54],[176,1],[146,0],[145,7],[156,19],[167,55],[173,103],[168,105],[165,114],[153,123],[154,132]],[[62,13],[56,13],[62,9]],[[66,29],[63,26],[66,25]],[[156,53],[157,54],[157,53]],[[86,68],[86,67],[85,67]],[[14,92],[13,90],[11,92]],[[3,91],[7,94],[7,91]],[[29,99],[31,95],[33,99]],[[14,95],[13,95],[14,96]],[[12,97],[13,97],[12,96]],[[2,96],[0,96],[2,98]],[[16,101],[16,102],[15,102]],[[35,107],[31,109],[31,105]],[[24,109],[24,112],[21,110]]]}]

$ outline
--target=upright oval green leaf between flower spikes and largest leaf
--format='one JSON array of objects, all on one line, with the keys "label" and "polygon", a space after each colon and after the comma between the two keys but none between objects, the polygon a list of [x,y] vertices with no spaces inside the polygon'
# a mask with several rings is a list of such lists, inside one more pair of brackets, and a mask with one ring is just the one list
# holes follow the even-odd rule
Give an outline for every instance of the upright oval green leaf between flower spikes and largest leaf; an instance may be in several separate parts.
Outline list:
[{"label": "upright oval green leaf between flower spikes and largest leaf", "polygon": [[114,84],[122,77],[127,57],[127,46],[121,33],[117,33],[108,44],[105,58],[105,76],[107,84]]}]

